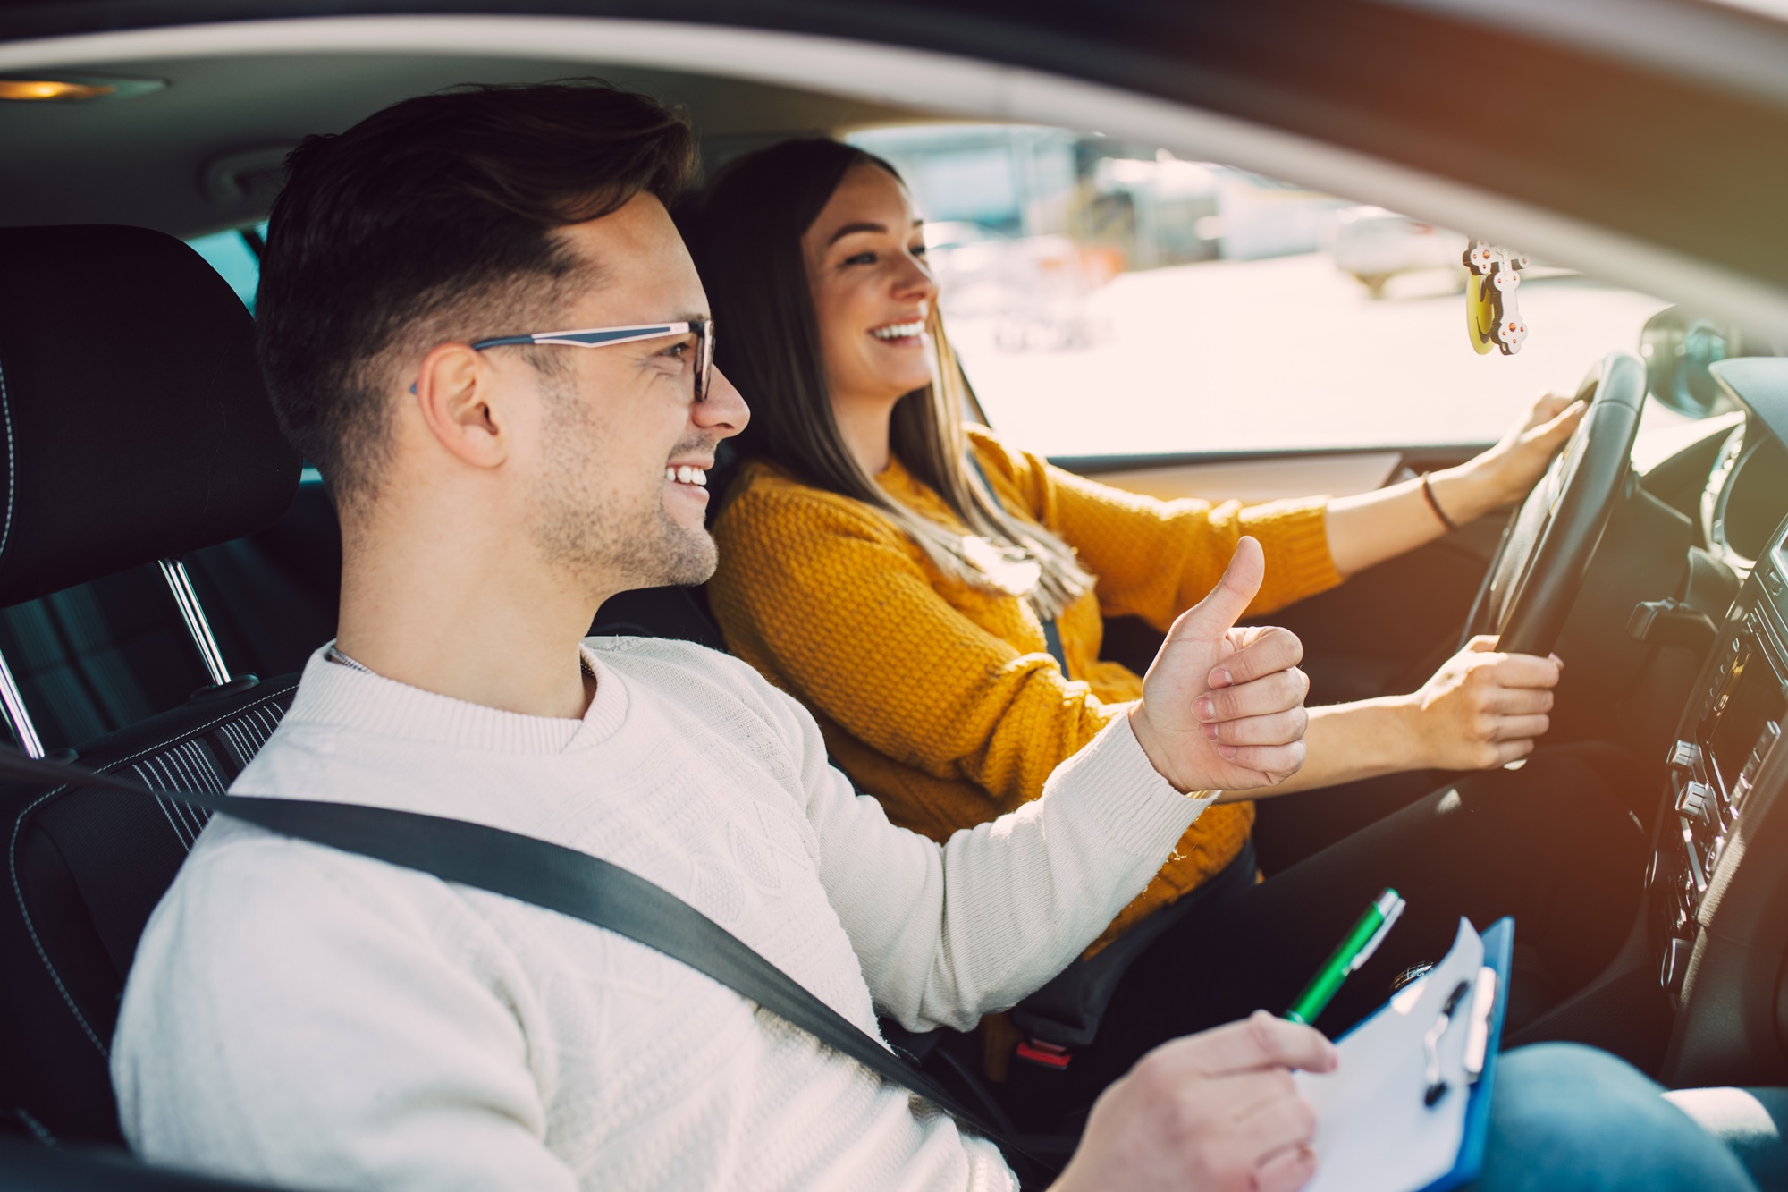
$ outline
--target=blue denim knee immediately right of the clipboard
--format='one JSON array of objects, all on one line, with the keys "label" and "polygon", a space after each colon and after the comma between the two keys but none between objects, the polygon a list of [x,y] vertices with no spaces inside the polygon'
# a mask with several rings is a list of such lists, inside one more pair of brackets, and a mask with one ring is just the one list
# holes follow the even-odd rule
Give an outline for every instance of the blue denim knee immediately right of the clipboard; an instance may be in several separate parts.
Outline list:
[{"label": "blue denim knee immediately right of the clipboard", "polygon": [[1734,1151],[1663,1092],[1591,1047],[1511,1051],[1477,1192],[1756,1192]]}]

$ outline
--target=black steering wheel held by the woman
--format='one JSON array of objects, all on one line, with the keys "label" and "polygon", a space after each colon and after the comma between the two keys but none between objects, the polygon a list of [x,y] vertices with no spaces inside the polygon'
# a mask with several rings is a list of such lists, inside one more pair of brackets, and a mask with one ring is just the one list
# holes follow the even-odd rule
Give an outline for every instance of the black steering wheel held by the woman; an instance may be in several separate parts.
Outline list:
[{"label": "black steering wheel held by the woman", "polygon": [[1645,388],[1645,365],[1631,353],[1609,353],[1577,388],[1577,397],[1590,397],[1590,410],[1527,494],[1489,564],[1488,610],[1498,650],[1547,655],[1557,643],[1607,519],[1627,492]]}]

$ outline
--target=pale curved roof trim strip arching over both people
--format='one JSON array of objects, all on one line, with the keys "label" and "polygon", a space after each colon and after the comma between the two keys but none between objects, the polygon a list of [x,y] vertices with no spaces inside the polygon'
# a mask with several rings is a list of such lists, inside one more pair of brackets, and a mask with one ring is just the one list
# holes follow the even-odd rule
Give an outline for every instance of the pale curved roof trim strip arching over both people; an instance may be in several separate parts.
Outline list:
[{"label": "pale curved roof trim strip arching over both people", "polygon": [[170,57],[315,52],[481,54],[586,59],[755,82],[796,84],[915,115],[1096,129],[1375,202],[1414,218],[1520,245],[1788,338],[1788,292],[1352,149],[1118,88],[982,59],[799,32],[624,18],[336,16],[220,21],[0,45],[0,70],[73,70]]}]

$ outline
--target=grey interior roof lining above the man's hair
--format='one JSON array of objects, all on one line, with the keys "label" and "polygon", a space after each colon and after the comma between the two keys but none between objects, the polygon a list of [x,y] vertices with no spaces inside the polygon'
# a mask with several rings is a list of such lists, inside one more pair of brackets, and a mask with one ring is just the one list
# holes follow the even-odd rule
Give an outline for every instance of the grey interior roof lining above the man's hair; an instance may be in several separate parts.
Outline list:
[{"label": "grey interior roof lining above the man's hair", "polygon": [[470,45],[429,54],[198,54],[89,63],[88,72],[170,86],[143,97],[148,102],[0,106],[4,170],[34,179],[0,193],[0,224],[138,224],[175,236],[240,227],[266,215],[270,190],[229,186],[234,170],[277,174],[284,154],[311,132],[340,132],[388,104],[467,82],[601,77],[681,104],[704,136],[704,152],[721,156],[790,129],[912,118],[905,109],[799,86],[576,55],[501,55]]}]

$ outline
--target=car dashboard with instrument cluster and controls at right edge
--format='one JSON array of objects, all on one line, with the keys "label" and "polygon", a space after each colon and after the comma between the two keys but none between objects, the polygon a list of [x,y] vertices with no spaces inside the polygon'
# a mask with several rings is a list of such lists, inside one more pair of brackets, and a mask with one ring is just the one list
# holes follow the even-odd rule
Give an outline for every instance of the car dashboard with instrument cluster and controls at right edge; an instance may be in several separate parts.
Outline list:
[{"label": "car dashboard with instrument cluster and controls at right edge", "polygon": [[1645,879],[1672,1085],[1788,1074],[1788,360],[1747,367],[1768,383],[1702,499],[1708,549],[1743,583],[1668,748]]}]

